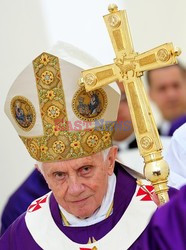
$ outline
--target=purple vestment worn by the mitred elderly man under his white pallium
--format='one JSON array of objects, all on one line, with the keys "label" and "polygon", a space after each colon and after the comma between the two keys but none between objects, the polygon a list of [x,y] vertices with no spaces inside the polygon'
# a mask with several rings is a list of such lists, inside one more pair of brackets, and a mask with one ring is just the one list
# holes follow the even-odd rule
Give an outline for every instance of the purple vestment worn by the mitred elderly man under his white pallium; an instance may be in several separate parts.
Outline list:
[{"label": "purple vestment worn by the mitred elderly man under his white pallium", "polygon": [[[116,163],[115,173],[117,176],[117,183],[116,183],[116,190],[114,195],[114,207],[113,213],[105,220],[91,226],[87,227],[67,227],[63,226],[61,216],[59,213],[58,204],[54,198],[51,196],[50,199],[50,210],[52,217],[55,221],[57,227],[72,241],[78,242],[81,244],[86,244],[89,238],[94,237],[94,239],[99,240],[103,236],[105,236],[112,228],[117,224],[120,220],[122,215],[125,213],[132,196],[136,189],[136,180],[131,175],[129,175],[119,163]],[[170,195],[176,193],[176,190],[170,189]],[[186,201],[185,201],[186,203]],[[155,215],[153,217],[152,222],[147,226],[147,228],[142,232],[138,239],[132,244],[129,249],[152,249],[151,246],[151,239],[153,237],[153,229],[155,222],[158,221],[160,223],[161,229],[161,213],[160,211],[163,209],[159,209],[157,213],[160,215]],[[162,212],[163,213],[163,212]],[[135,216],[135,215],[134,215]],[[37,243],[33,240],[32,236],[30,235],[26,224],[25,224],[25,214],[21,215],[6,231],[6,233],[2,236],[0,240],[0,249],[3,250],[38,250],[41,249]],[[157,219],[156,219],[157,217]],[[160,218],[160,220],[158,220]],[[171,220],[169,216],[166,215],[167,220]],[[164,221],[162,221],[164,223]],[[169,224],[166,223],[166,229],[170,230]],[[42,230],[42,229],[41,229]],[[171,228],[171,230],[173,230]],[[177,230],[177,228],[175,229]],[[177,232],[177,231],[175,231]],[[50,235],[49,235],[50,237]],[[123,235],[125,237],[125,235]],[[156,239],[154,239],[156,241]],[[63,249],[60,246],[59,249]],[[155,248],[153,248],[155,249]],[[166,249],[166,248],[156,248],[156,249]],[[167,248],[168,249],[168,248]],[[174,249],[174,248],[172,248]],[[182,248],[176,248],[181,250]],[[52,250],[52,249],[51,249]],[[69,249],[70,250],[70,249]],[[117,249],[120,250],[120,249]],[[121,248],[121,250],[123,250]]]}]

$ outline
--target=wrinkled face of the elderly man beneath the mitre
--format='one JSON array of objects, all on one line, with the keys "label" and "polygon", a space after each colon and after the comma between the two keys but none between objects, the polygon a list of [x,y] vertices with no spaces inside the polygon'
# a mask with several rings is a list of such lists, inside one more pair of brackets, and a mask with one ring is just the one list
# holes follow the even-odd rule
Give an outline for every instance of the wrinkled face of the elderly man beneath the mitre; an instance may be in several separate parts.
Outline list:
[{"label": "wrinkled face of the elderly man beneath the mitre", "polygon": [[90,217],[106,194],[116,151],[112,147],[105,161],[102,154],[97,153],[79,159],[43,163],[43,175],[58,204],[76,217]]}]

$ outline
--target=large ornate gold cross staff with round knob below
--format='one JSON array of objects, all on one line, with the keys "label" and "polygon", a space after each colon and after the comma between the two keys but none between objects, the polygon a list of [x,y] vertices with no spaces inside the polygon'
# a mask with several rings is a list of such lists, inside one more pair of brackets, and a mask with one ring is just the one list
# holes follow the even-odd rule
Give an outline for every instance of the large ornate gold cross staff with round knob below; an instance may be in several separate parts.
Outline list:
[{"label": "large ornate gold cross staff with round knob below", "polygon": [[151,181],[160,204],[169,200],[167,178],[169,168],[162,157],[162,144],[141,80],[143,72],[176,64],[180,54],[172,43],[163,44],[145,53],[134,51],[125,10],[109,6],[104,20],[116,54],[113,64],[85,70],[80,84],[86,91],[114,81],[123,82],[140,154],[144,158],[144,174]]}]

